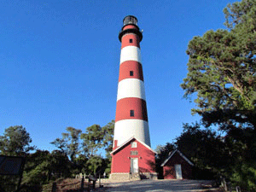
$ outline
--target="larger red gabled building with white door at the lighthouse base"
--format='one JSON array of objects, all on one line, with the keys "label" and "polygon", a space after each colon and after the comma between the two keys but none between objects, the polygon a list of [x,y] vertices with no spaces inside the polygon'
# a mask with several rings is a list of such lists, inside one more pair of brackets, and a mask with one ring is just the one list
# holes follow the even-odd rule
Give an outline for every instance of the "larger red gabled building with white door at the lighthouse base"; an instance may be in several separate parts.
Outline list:
[{"label": "larger red gabled building with white door at the lighthouse base", "polygon": [[135,137],[119,147],[114,146],[111,152],[111,179],[156,179],[155,154],[152,148]]}]

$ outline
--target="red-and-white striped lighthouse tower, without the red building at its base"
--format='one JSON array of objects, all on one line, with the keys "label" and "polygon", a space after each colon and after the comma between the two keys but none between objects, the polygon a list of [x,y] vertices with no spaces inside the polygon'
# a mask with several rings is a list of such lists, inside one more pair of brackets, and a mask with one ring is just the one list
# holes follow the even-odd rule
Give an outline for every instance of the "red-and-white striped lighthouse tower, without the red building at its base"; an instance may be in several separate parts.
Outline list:
[{"label": "red-and-white striped lighthouse tower, without the red building at its base", "polygon": [[131,137],[136,137],[150,146],[140,49],[142,39],[143,33],[137,26],[137,18],[126,16],[122,31],[119,33],[122,46],[113,137],[117,146]]}]

